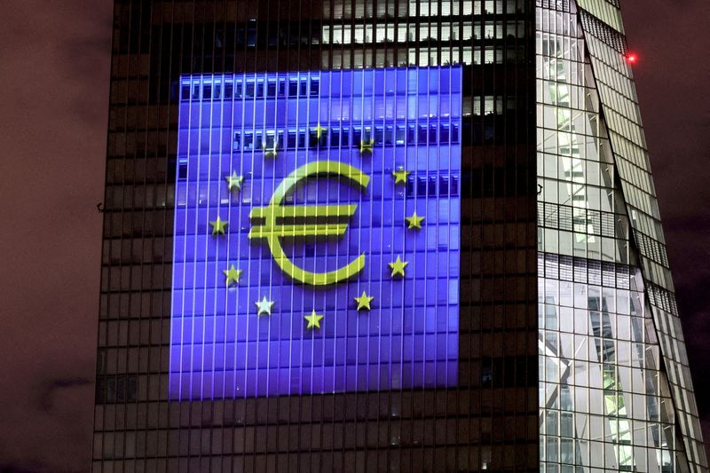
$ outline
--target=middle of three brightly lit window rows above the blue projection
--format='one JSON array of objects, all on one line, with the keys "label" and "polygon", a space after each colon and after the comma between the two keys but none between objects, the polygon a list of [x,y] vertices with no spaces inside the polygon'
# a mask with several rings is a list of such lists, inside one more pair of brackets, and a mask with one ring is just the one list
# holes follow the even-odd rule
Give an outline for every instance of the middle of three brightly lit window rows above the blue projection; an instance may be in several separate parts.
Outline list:
[{"label": "middle of three brightly lit window rows above the blue projection", "polygon": [[502,39],[525,37],[525,21],[485,21],[436,24],[406,23],[391,25],[326,25],[323,44],[406,43],[416,41],[468,41],[472,39]]}]

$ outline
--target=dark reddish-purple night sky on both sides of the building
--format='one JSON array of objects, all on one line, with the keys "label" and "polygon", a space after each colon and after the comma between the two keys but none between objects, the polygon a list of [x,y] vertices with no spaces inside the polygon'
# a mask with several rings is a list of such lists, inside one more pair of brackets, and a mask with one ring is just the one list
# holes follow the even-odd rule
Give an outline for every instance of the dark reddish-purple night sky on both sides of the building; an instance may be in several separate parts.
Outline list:
[{"label": "dark reddish-purple night sky on both sides of the building", "polygon": [[[0,20],[0,471],[90,466],[112,4],[25,0]],[[710,438],[710,2],[622,4]]]}]

